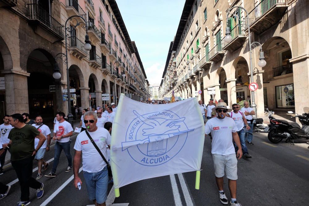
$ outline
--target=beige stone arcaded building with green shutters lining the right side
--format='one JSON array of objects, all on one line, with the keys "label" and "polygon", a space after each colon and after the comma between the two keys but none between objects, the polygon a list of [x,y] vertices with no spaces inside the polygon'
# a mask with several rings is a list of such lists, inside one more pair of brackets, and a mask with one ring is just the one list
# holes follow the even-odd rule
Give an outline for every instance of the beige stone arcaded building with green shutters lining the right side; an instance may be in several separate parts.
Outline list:
[{"label": "beige stone arcaded building with green shutters lining the right side", "polygon": [[[234,6],[243,7],[248,15],[239,7],[231,9]],[[231,107],[250,99],[248,83],[256,82],[258,116],[266,107],[302,114],[309,101],[308,9],[306,0],[186,1],[167,55],[160,96],[170,97],[174,90],[188,98],[201,90],[197,98],[205,103],[213,97]],[[252,80],[247,19],[251,42],[262,45],[267,62],[258,66],[260,47],[252,45]],[[224,41],[227,25],[229,43]]]}]

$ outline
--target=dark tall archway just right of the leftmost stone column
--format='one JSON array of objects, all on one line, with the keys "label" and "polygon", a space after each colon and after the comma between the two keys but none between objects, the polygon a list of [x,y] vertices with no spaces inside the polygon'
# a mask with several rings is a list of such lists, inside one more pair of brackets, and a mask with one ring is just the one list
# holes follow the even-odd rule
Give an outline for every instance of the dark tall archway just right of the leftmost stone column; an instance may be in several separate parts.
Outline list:
[{"label": "dark tall archway just right of the leftmost stone column", "polygon": [[43,49],[33,50],[27,60],[28,100],[30,118],[36,115],[53,118],[54,104],[56,103],[55,85],[53,79],[54,58]]}]

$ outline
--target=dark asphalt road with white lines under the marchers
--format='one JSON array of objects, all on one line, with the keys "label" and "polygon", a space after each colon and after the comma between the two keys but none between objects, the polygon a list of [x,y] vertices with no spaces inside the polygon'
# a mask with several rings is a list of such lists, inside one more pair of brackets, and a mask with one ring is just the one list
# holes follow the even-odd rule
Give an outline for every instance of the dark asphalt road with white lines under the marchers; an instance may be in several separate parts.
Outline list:
[{"label": "dark asphalt road with white lines under the marchers", "polygon": [[[74,155],[71,143],[71,154]],[[251,159],[238,161],[237,200],[242,205],[308,205],[309,196],[309,145],[305,144],[272,144],[267,134],[256,134],[254,145],[248,145]],[[109,198],[113,205],[222,205],[218,199],[218,189],[214,179],[214,167],[210,153],[210,139],[205,139],[201,165],[200,190],[195,187],[195,172],[164,176],[134,182],[120,188],[120,197],[114,199],[110,193],[112,184],[109,184]],[[45,160],[53,163],[53,150],[45,155]],[[37,167],[33,161],[33,168]],[[47,171],[51,170],[52,164]],[[30,189],[31,205],[91,205],[87,198],[85,185],[78,191],[70,180],[73,171],[65,173],[67,167],[66,156],[62,152],[57,168],[56,178],[39,180],[44,183],[44,196],[36,199],[36,191]],[[129,168],[128,168],[129,170]],[[14,169],[7,165],[4,174],[0,176],[3,183],[8,184],[16,179]],[[82,172],[81,172],[82,173]],[[83,181],[83,175],[80,177]],[[33,173],[35,177],[37,171]],[[224,190],[230,199],[227,179]],[[56,194],[57,193],[57,194]],[[15,205],[20,197],[19,183],[12,184],[9,195],[0,200],[1,205]],[[126,204],[124,204],[126,203]]]}]

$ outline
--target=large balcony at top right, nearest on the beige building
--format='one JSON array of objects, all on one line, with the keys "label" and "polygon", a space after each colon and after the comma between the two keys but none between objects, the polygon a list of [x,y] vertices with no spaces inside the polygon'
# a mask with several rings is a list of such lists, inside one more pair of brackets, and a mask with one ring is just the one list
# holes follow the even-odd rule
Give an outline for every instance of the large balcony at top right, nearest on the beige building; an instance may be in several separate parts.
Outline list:
[{"label": "large balcony at top right, nearest on the beige building", "polygon": [[[250,13],[250,30],[261,34],[279,22],[291,0],[262,0]],[[248,31],[248,28],[245,29]]]}]

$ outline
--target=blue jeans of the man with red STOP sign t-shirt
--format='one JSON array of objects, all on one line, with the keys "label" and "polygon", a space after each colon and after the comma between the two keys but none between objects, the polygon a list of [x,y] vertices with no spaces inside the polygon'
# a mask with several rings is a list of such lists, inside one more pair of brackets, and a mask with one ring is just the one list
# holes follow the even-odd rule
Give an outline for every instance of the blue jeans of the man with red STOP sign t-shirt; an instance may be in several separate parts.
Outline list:
[{"label": "blue jeans of the man with red STOP sign t-shirt", "polygon": [[70,153],[70,141],[68,142],[56,142],[55,144],[55,156],[54,156],[54,163],[53,163],[53,169],[52,169],[52,173],[55,174],[56,173],[56,169],[59,163],[59,157],[61,155],[61,151],[64,151],[64,153],[66,154],[66,157],[68,158],[68,162],[69,162],[69,167],[72,167],[72,156]]}]

